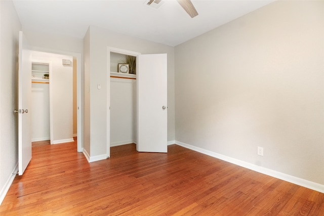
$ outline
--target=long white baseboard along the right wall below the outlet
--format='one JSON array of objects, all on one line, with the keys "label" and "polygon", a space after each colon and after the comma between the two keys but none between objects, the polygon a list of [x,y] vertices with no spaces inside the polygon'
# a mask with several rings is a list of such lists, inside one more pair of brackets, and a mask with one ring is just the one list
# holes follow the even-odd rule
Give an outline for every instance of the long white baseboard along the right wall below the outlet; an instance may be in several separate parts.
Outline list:
[{"label": "long white baseboard along the right wall below the outlet", "polygon": [[196,152],[200,152],[200,153],[203,153],[203,154],[206,154],[206,155],[209,155],[209,156],[212,156],[212,157],[215,157],[215,158],[218,158],[218,159],[221,159],[221,160],[224,160],[224,161],[227,161],[227,162],[230,162],[230,163],[233,163],[233,164],[236,164],[236,165],[239,165],[239,166],[242,166],[242,167],[257,171],[257,172],[260,172],[262,174],[265,174],[265,175],[268,175],[268,176],[271,176],[271,177],[274,177],[274,178],[277,178],[277,179],[284,180],[286,182],[293,183],[295,185],[299,185],[299,186],[302,186],[302,187],[305,187],[305,188],[309,188],[309,189],[324,193],[324,185],[321,185],[321,184],[318,184],[318,183],[315,183],[315,182],[311,182],[311,181],[308,181],[308,180],[305,180],[305,179],[290,176],[290,175],[284,174],[282,172],[278,172],[278,171],[275,171],[275,170],[272,170],[272,169],[268,169],[268,168],[265,168],[265,167],[262,167],[262,166],[258,166],[258,165],[252,164],[252,163],[248,163],[248,162],[245,162],[245,161],[242,161],[242,160],[238,160],[238,159],[235,159],[235,158],[232,158],[232,157],[228,157],[228,156],[225,156],[225,155],[222,155],[222,154],[218,154],[218,153],[215,153],[215,152],[212,152],[212,151],[209,151],[209,150],[206,150],[206,149],[202,149],[202,148],[199,148],[199,147],[195,147],[195,146],[192,146],[192,145],[189,145],[189,144],[186,144],[186,143],[182,143],[182,142],[179,142],[179,141],[175,141],[175,144],[177,144],[179,146],[182,146],[182,147],[185,147],[185,148],[188,148],[188,149],[191,149],[191,150],[196,151]]}]

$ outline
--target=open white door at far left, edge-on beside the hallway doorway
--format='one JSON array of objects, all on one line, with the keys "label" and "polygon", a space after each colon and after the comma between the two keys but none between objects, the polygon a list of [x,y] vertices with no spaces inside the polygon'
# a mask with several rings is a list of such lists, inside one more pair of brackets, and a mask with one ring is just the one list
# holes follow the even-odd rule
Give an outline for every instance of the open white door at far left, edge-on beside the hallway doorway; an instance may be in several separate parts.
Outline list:
[{"label": "open white door at far left, edge-on beside the hallway doorway", "polygon": [[[19,32],[18,69],[18,174],[21,176],[31,159],[31,52],[23,32]],[[16,112],[16,111],[15,111]]]}]

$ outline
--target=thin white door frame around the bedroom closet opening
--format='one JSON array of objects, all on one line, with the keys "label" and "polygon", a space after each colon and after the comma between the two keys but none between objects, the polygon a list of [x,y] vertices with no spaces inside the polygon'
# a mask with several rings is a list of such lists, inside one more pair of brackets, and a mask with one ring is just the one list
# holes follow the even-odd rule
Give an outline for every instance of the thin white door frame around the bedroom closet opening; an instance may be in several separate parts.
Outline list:
[{"label": "thin white door frame around the bedroom closet opening", "polygon": [[[110,52],[112,53],[118,53],[118,54],[124,54],[128,56],[135,56],[136,57],[136,73],[138,73],[138,56],[141,55],[141,53],[129,51],[129,50],[123,50],[119,48],[114,47],[107,47],[107,158],[110,157]],[[136,85],[137,85],[137,79],[136,79]],[[136,96],[137,98],[137,96]],[[137,99],[136,99],[137,100]],[[137,118],[137,116],[136,116]],[[137,129],[138,131],[138,129]],[[138,138],[136,138],[138,139]],[[136,141],[136,143],[138,143]],[[137,149],[136,145],[136,149]]]}]

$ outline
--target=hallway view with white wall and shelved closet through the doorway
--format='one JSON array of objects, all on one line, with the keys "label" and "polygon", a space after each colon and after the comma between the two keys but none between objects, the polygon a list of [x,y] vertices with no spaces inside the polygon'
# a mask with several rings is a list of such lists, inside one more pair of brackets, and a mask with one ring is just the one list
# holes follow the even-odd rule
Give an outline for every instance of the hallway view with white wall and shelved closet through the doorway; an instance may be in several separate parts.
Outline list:
[{"label": "hallway view with white wall and shelved closet through the doorway", "polygon": [[32,51],[31,58],[31,140],[73,142],[73,57]]}]

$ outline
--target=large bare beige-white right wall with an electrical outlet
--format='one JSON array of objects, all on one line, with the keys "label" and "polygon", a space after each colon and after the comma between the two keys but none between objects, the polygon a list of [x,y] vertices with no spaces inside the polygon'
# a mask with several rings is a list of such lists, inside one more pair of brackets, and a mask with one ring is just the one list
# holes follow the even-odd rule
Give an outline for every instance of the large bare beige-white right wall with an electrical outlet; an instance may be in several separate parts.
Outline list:
[{"label": "large bare beige-white right wall with an electrical outlet", "polygon": [[323,11],[277,1],[175,47],[176,140],[324,185]]}]

